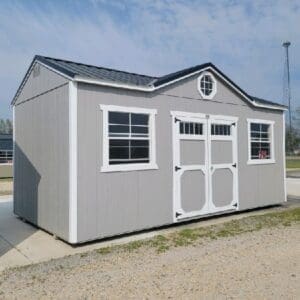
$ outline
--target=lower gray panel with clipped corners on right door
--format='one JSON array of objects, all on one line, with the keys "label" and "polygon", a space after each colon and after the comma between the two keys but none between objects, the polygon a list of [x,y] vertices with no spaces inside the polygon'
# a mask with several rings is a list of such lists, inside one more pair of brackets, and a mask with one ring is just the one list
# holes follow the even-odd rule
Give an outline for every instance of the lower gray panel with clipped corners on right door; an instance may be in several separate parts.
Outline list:
[{"label": "lower gray panel with clipped corners on right door", "polygon": [[233,174],[230,169],[216,169],[212,174],[212,203],[226,207],[233,200]]}]

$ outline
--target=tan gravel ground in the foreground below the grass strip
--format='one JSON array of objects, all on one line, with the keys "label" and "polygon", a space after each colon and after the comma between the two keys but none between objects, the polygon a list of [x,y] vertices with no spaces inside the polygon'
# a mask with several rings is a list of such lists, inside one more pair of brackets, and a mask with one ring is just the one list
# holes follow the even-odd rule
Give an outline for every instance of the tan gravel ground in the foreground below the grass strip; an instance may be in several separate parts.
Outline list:
[{"label": "tan gravel ground in the foreground below the grass strip", "polygon": [[157,253],[93,251],[4,271],[0,298],[299,299],[299,225]]}]

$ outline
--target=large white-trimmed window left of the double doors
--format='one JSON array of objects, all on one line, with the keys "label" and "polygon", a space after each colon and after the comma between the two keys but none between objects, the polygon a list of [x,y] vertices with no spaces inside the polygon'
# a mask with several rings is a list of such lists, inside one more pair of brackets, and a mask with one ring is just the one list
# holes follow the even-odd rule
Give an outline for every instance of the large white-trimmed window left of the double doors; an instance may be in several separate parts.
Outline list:
[{"label": "large white-trimmed window left of the double doors", "polygon": [[156,168],[154,110],[104,106],[102,171]]}]

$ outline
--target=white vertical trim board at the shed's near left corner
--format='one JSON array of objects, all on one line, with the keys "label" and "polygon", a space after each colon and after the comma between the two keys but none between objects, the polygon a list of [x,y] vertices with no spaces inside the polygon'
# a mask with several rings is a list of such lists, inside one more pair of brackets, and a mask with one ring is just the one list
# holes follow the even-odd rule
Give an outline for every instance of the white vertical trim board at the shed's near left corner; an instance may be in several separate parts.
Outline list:
[{"label": "white vertical trim board at the shed's near left corner", "polygon": [[69,82],[69,242],[77,243],[77,82]]}]

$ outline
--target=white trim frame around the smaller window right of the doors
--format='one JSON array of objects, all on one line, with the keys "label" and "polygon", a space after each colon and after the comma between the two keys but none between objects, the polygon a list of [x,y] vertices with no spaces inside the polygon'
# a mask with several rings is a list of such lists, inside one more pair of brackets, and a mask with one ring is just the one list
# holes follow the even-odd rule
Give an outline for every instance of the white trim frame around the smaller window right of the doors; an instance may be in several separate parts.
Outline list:
[{"label": "white trim frame around the smaller window right of the doors", "polygon": [[[248,123],[248,165],[267,165],[274,164],[275,161],[275,151],[274,151],[274,121],[270,120],[260,120],[260,119],[247,119]],[[252,159],[251,158],[251,123],[257,124],[268,124],[270,125],[270,135],[271,135],[271,147],[270,147],[270,159]]]}]

